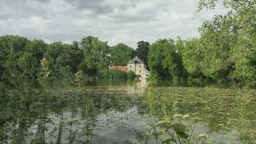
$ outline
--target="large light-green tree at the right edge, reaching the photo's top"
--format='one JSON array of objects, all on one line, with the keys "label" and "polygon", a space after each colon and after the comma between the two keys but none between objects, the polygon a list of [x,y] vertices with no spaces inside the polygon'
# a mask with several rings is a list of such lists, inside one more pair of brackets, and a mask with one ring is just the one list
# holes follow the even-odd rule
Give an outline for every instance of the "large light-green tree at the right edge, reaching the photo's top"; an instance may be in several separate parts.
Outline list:
[{"label": "large light-green tree at the right edge, reaching the photo's top", "polygon": [[[203,8],[215,8],[216,2],[217,0],[201,0],[197,12]],[[206,21],[200,28],[203,45],[212,47],[211,50],[206,49],[204,55],[209,55],[208,57],[212,60],[208,62],[213,64],[209,70],[203,71],[210,76],[215,73],[214,77],[218,78],[228,75],[239,84],[255,85],[256,2],[224,0],[223,5],[230,9],[228,14],[217,15],[212,23]],[[215,55],[213,55],[214,52]],[[217,69],[213,71],[216,67]],[[220,73],[224,75],[220,76]]]}]

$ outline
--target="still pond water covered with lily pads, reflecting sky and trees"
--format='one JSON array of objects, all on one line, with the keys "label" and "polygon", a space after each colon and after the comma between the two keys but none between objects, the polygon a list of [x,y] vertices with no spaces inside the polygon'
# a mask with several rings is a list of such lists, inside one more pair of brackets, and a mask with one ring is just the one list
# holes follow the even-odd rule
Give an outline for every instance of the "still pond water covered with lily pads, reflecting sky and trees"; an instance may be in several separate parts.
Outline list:
[{"label": "still pond water covered with lily pads, reflecting sky and trees", "polygon": [[253,89],[159,81],[150,93],[143,80],[0,86],[0,143],[167,143],[167,120],[184,124],[190,142],[255,143]]}]

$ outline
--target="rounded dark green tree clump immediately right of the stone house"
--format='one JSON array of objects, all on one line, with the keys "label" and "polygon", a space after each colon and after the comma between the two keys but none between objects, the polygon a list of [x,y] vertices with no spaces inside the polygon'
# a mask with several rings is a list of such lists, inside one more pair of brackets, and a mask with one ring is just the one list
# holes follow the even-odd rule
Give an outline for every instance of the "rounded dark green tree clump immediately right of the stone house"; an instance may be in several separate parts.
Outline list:
[{"label": "rounded dark green tree clump immediately right of the stone house", "polygon": [[149,69],[155,78],[187,79],[181,59],[183,41],[159,39],[151,44],[149,51]]}]

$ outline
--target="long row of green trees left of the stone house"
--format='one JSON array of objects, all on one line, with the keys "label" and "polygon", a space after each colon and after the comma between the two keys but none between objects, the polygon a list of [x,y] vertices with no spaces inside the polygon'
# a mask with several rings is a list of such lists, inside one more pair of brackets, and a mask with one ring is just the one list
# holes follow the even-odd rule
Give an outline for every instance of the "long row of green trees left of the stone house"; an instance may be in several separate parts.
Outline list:
[{"label": "long row of green trees left of the stone house", "polygon": [[[143,45],[139,41],[138,45]],[[144,49],[143,49],[144,50]],[[145,53],[145,52],[144,52]],[[77,71],[87,76],[101,77],[108,66],[127,65],[135,55],[142,55],[140,47],[136,50],[119,43],[110,47],[107,41],[88,36],[71,44],[43,40],[28,40],[21,36],[0,37],[0,76],[1,79],[34,78],[42,75],[41,60],[45,60],[49,78],[71,79]],[[106,73],[109,73],[106,71]],[[111,76],[125,78],[125,73],[111,71]],[[107,77],[107,78],[108,78]],[[106,78],[106,77],[104,77]]]}]

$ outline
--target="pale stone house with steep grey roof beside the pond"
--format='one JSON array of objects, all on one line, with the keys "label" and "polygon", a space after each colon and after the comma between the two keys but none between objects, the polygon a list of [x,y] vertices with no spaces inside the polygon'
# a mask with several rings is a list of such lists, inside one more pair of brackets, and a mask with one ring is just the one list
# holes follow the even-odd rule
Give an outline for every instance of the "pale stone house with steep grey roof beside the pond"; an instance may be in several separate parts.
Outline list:
[{"label": "pale stone house with steep grey roof beside the pond", "polygon": [[149,71],[145,67],[145,63],[137,56],[127,63],[127,70],[135,72],[135,75],[140,75],[142,78],[149,76]]}]

